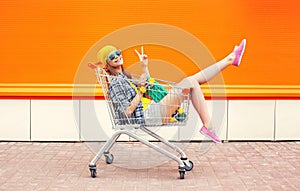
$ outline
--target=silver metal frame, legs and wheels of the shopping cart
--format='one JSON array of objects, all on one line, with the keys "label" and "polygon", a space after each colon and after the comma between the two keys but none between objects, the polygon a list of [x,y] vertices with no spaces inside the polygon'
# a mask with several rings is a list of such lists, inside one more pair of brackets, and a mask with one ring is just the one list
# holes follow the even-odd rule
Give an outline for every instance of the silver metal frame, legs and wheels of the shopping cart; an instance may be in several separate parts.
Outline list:
[{"label": "silver metal frame, legs and wheels of the shopping cart", "polygon": [[[91,173],[91,177],[95,178],[97,176],[97,162],[98,160],[104,156],[105,157],[105,161],[107,164],[111,164],[113,163],[114,160],[114,156],[113,154],[110,153],[110,149],[113,147],[113,145],[116,143],[116,141],[118,140],[118,138],[120,137],[120,135],[125,134],[128,135],[129,137],[141,142],[142,144],[154,149],[155,151],[167,156],[168,158],[176,161],[178,163],[178,171],[179,171],[179,178],[180,179],[184,179],[185,176],[185,172],[186,171],[190,171],[193,168],[193,162],[190,161],[186,154],[184,153],[184,151],[179,148],[178,146],[170,143],[169,141],[167,141],[166,139],[164,139],[163,137],[159,136],[158,134],[156,134],[155,132],[151,131],[148,127],[151,126],[156,126],[156,124],[132,124],[130,122],[130,118],[129,116],[127,117],[127,123],[126,124],[122,124],[122,125],[118,125],[118,121],[116,121],[116,115],[115,115],[115,111],[114,111],[114,106],[109,98],[108,95],[108,78],[114,78],[110,75],[108,75],[104,69],[100,68],[99,66],[96,66],[94,64],[88,64],[88,66],[94,70],[96,78],[97,78],[97,82],[101,85],[102,90],[103,90],[103,94],[105,97],[105,102],[106,102],[106,106],[107,109],[109,111],[109,116],[112,122],[112,126],[115,129],[115,133],[105,142],[105,144],[101,147],[101,149],[96,153],[95,157],[92,159],[92,161],[89,163],[89,170]],[[137,75],[135,75],[136,77]],[[131,79],[130,79],[131,80]],[[164,86],[168,86],[166,88],[170,89],[170,88],[174,88],[175,87],[175,83],[174,82],[168,82],[165,80],[160,80],[160,79],[155,79],[156,81],[158,81],[159,83],[163,84]],[[132,79],[132,82],[135,83],[136,80]],[[176,87],[178,88],[178,87]],[[186,110],[186,112],[188,112],[189,109],[189,99],[190,99],[190,91],[186,91],[186,89],[182,89],[182,92],[185,91],[185,98],[184,98],[184,109]],[[188,114],[187,114],[188,116]],[[186,124],[187,119],[185,119],[184,121],[173,121],[170,123],[166,123],[163,125],[166,126],[183,126]],[[158,125],[162,125],[162,124],[158,124]],[[165,144],[166,146],[168,146],[169,148],[171,148],[172,150],[177,152],[177,155],[175,155],[174,153],[171,153],[169,151],[167,151],[164,148],[159,147],[158,145],[154,144],[154,142],[150,142],[149,140],[139,136],[138,134],[136,134],[136,130],[140,129],[143,132],[145,132],[146,134],[150,135],[151,137],[153,137],[155,140]],[[179,156],[178,156],[179,155]]]}]

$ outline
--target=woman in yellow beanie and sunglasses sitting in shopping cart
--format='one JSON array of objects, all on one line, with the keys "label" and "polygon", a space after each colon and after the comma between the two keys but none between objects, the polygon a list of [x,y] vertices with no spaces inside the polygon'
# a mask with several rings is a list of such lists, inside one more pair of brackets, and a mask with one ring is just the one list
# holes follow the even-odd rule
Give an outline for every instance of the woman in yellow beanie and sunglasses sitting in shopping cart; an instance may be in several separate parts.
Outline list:
[{"label": "woman in yellow beanie and sunglasses sitting in shopping cart", "polygon": [[[240,45],[235,46],[233,52],[227,55],[225,58],[192,76],[184,78],[177,84],[177,86],[180,88],[191,89],[192,104],[203,123],[203,127],[200,129],[200,132],[216,143],[220,143],[221,139],[212,131],[212,128],[210,127],[211,118],[205,103],[204,95],[199,85],[208,82],[230,65],[239,66],[245,47],[246,40],[244,39]],[[150,76],[150,72],[148,70],[148,57],[146,54],[144,54],[143,47],[141,52],[138,52],[137,50],[135,50],[135,52],[138,55],[143,68],[141,81],[145,81],[147,77]],[[143,92],[139,91],[138,88],[134,88],[134,86],[128,82],[128,79],[131,79],[132,76],[123,67],[122,52],[113,46],[105,46],[99,50],[97,53],[97,58],[99,62],[104,63],[104,67],[109,75],[117,76],[117,78],[114,78],[109,83],[109,97],[113,103],[122,103],[114,105],[115,110],[121,111],[116,112],[118,119],[126,119],[126,116],[130,116],[130,120],[133,120],[131,121],[132,123],[145,123],[143,105],[141,102]],[[141,84],[138,84],[138,86],[139,85]],[[177,99],[171,99],[170,96],[171,94],[167,94],[160,101],[161,105],[180,105],[182,100],[179,97]],[[176,108],[174,108],[174,111],[165,111],[162,108],[160,115],[162,115],[164,118],[172,115],[175,110]]]}]

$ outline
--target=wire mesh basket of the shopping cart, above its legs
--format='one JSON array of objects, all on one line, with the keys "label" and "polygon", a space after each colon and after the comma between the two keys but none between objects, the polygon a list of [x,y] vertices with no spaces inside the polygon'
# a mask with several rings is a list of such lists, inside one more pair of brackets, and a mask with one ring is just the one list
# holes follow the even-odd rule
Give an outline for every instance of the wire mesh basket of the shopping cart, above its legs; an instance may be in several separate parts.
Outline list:
[{"label": "wire mesh basket of the shopping cart, above its legs", "polygon": [[[97,81],[102,87],[113,128],[126,126],[183,126],[189,112],[190,89],[180,88],[175,82],[148,78],[141,81],[138,75],[113,76],[98,67]],[[142,84],[142,87],[139,87]],[[143,90],[142,90],[143,89]],[[144,91],[140,103],[134,103],[137,91]],[[126,108],[138,105],[140,114],[128,114]],[[138,110],[137,109],[137,110]]]}]

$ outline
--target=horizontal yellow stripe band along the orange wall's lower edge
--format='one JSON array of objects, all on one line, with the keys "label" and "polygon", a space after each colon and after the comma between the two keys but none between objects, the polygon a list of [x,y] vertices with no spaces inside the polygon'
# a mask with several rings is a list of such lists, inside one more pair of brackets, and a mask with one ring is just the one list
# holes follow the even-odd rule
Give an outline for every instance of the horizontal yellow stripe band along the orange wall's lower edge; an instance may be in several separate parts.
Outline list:
[{"label": "horizontal yellow stripe band along the orange wall's lower edge", "polygon": [[[202,85],[208,97],[300,98],[300,85]],[[0,96],[103,96],[93,84],[0,84]]]}]

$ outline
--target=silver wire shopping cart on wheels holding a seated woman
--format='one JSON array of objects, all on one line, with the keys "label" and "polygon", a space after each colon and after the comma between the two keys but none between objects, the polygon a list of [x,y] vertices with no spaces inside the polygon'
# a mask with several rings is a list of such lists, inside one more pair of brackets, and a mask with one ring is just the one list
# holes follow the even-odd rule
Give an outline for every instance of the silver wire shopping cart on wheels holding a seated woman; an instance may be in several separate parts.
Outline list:
[{"label": "silver wire shopping cart on wheels holding a seated woman", "polygon": [[[106,106],[112,122],[112,128],[115,129],[115,133],[105,142],[89,163],[91,176],[93,178],[97,176],[96,163],[102,155],[104,155],[107,164],[113,162],[114,156],[110,153],[110,149],[116,143],[120,135],[126,134],[170,159],[175,160],[178,163],[180,179],[184,179],[185,172],[192,170],[193,162],[187,158],[181,148],[151,131],[150,128],[155,126],[185,125],[189,111],[190,89],[179,88],[174,82],[149,78],[146,82],[142,83],[141,87],[139,87],[139,90],[144,93],[141,100],[143,116],[142,118],[136,118],[125,114],[124,103],[111,98],[113,93],[116,93],[114,91],[126,91],[125,88],[122,89],[125,85],[130,85],[137,91],[136,84],[141,84],[141,81],[138,78],[139,76],[133,75],[132,79],[120,79],[119,76],[108,75],[104,69],[94,64],[88,65],[95,71],[97,82],[102,87]],[[115,90],[113,85],[119,86],[118,90]],[[128,92],[122,93],[123,95],[128,94]],[[159,147],[155,142],[139,136],[136,133],[137,129],[142,130],[155,138],[155,140],[176,151],[177,155]]]}]

